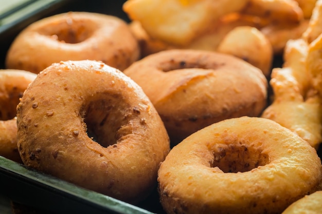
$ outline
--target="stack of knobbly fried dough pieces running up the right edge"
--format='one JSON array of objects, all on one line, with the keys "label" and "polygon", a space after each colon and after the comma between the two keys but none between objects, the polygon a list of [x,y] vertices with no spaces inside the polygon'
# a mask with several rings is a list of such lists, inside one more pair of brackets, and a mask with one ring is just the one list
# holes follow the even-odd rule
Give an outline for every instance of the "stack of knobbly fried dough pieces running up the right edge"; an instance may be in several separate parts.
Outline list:
[{"label": "stack of knobbly fried dough pieces running up the right edge", "polygon": [[318,149],[322,141],[322,1],[317,1],[302,36],[285,46],[282,68],[274,68],[270,84],[274,101],[263,118],[274,120]]}]

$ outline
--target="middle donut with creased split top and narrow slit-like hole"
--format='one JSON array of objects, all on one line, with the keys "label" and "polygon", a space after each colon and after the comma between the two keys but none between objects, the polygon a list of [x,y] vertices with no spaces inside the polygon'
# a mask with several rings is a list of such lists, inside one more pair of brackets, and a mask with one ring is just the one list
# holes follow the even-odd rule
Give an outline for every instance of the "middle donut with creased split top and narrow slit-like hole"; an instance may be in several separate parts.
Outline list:
[{"label": "middle donut with creased split top and narrow slit-like hole", "polygon": [[148,95],[172,142],[224,119],[257,116],[266,106],[262,71],[228,54],[164,50],[123,72]]}]

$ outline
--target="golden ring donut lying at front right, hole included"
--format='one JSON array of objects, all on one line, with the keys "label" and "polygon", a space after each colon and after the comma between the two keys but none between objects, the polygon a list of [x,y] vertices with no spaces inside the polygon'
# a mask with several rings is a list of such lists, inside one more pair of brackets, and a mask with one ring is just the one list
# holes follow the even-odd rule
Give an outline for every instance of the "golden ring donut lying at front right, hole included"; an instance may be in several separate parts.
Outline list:
[{"label": "golden ring donut lying at front right, hole included", "polygon": [[158,170],[171,213],[281,213],[321,180],[316,150],[269,119],[242,116],[191,134]]}]

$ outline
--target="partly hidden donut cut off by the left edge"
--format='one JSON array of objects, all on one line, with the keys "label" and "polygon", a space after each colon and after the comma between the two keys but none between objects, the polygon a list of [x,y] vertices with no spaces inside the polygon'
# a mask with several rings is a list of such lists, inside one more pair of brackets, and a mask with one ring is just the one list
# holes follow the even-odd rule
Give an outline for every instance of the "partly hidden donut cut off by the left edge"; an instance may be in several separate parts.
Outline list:
[{"label": "partly hidden donut cut off by the left edge", "polygon": [[0,69],[0,155],[19,163],[16,107],[35,76],[24,70]]}]

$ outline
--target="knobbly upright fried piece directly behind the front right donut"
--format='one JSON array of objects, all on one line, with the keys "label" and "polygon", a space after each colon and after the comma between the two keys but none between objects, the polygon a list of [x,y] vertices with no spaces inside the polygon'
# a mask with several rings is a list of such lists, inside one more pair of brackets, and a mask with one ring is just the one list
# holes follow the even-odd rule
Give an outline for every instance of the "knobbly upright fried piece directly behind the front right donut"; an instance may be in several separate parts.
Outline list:
[{"label": "knobbly upright fried piece directly behind the front right donut", "polygon": [[284,66],[272,71],[274,101],[262,117],[289,128],[317,149],[322,142],[322,100],[312,88],[307,54],[302,39],[288,42]]}]

